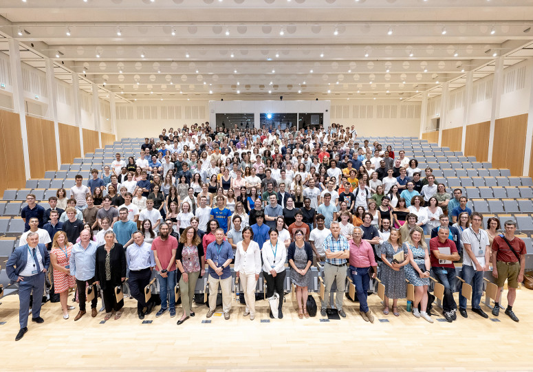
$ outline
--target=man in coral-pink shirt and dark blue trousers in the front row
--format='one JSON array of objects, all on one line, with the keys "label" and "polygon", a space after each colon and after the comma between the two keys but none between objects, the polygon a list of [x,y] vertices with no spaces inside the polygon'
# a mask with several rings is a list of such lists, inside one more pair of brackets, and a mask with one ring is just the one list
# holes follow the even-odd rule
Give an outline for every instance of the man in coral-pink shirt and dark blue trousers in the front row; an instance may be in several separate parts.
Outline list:
[{"label": "man in coral-pink shirt and dark blue trousers in the front row", "polygon": [[[372,246],[368,241],[362,239],[362,234],[363,231],[360,227],[353,228],[352,239],[349,243],[350,275],[353,285],[356,286],[359,314],[365,322],[373,323],[374,316],[368,307],[367,298],[370,278],[376,279],[378,275],[378,264],[374,259],[375,253]],[[370,267],[373,271],[372,276],[369,275]]]}]

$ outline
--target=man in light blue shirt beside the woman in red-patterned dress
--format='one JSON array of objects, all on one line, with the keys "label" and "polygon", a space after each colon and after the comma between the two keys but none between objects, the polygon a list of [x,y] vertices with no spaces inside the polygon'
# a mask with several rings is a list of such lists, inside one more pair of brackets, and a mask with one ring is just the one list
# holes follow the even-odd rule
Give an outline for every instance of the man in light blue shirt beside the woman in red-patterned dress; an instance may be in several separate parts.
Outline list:
[{"label": "man in light blue shirt beside the woman in red-patterned dress", "polygon": [[[91,234],[89,230],[83,230],[80,233],[80,242],[74,244],[70,254],[70,274],[76,278],[78,298],[80,299],[80,311],[78,312],[78,315],[76,315],[76,318],[74,318],[75,322],[80,320],[80,318],[85,315],[85,287],[87,284],[89,284],[90,287],[94,283],[96,248],[96,242],[91,241]],[[93,290],[96,290],[96,288]],[[96,310],[97,303],[98,296],[94,296],[93,300],[91,301],[91,316],[93,318],[96,317],[96,314],[98,314],[98,311]]]}]

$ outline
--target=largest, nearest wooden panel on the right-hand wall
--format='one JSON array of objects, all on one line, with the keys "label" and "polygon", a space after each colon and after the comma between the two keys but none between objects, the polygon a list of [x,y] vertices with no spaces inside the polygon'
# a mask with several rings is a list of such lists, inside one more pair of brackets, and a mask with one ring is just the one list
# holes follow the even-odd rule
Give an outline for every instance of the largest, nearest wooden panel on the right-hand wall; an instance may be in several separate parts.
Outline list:
[{"label": "largest, nearest wooden panel on the right-hand wall", "polygon": [[494,168],[509,168],[511,175],[522,175],[526,129],[527,113],[496,120],[492,148]]}]

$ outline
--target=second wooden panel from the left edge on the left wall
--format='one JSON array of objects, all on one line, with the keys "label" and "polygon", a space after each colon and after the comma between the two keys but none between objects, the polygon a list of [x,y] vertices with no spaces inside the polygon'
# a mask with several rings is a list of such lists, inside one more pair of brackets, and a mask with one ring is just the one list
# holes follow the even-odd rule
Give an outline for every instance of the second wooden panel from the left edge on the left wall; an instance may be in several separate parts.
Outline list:
[{"label": "second wooden panel from the left edge on the left wall", "polygon": [[57,170],[56,135],[54,122],[26,116],[30,174],[32,178],[43,178],[45,171]]}]

